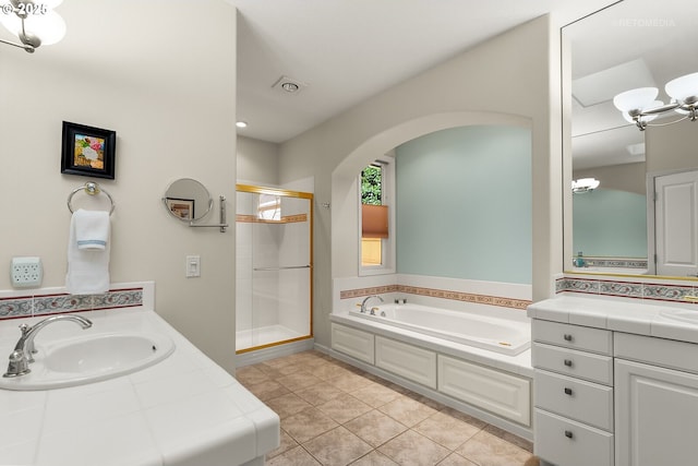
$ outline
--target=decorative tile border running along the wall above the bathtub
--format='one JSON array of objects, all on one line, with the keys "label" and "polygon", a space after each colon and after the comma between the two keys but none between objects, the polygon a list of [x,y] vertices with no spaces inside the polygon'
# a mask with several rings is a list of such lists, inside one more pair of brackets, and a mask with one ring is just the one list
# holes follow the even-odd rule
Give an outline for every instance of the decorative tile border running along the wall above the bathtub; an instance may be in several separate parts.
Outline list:
[{"label": "decorative tile border running along the wall above the bathtub", "polygon": [[474,295],[462,291],[452,291],[436,288],[422,288],[408,285],[386,285],[371,288],[357,288],[339,291],[339,299],[351,299],[362,296],[381,295],[384,292],[406,292],[409,295],[425,296],[429,298],[452,299],[455,301],[473,302],[478,304],[496,306],[500,308],[512,308],[526,310],[531,303],[526,299],[513,299],[501,296]]}]

